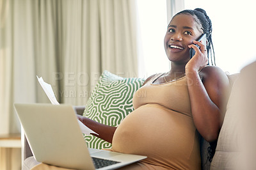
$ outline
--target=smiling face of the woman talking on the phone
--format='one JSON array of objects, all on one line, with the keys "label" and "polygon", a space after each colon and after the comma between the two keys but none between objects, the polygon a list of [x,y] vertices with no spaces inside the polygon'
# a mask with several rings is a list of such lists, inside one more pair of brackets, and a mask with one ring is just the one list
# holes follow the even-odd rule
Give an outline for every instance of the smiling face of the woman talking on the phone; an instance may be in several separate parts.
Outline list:
[{"label": "smiling face of the woman talking on the phone", "polygon": [[170,61],[179,63],[189,61],[188,45],[203,34],[196,19],[193,15],[182,13],[171,20],[164,36],[164,49]]}]

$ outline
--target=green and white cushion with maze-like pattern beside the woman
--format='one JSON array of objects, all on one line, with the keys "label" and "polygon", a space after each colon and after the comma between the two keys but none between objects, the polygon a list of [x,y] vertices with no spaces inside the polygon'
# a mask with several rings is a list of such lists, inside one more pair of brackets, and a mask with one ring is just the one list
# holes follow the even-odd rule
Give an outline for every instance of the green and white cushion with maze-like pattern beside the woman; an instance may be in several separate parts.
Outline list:
[{"label": "green and white cushion with maze-like pattern beside the woman", "polygon": [[[104,71],[93,89],[83,116],[104,125],[117,127],[134,109],[132,97],[145,80],[123,78]],[[111,148],[111,144],[93,135],[84,135],[89,148]]]}]

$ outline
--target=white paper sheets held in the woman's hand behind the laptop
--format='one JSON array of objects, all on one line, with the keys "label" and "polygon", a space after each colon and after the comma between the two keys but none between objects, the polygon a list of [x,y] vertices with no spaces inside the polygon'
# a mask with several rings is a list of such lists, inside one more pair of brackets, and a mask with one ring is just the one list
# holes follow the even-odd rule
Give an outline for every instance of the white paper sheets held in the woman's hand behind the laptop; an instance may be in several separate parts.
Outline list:
[{"label": "white paper sheets held in the woman's hand behind the laptop", "polygon": [[[38,77],[36,75],[38,82],[40,83],[40,85],[42,86],[42,88],[44,89],[44,92],[46,93],[47,97],[49,98],[49,100],[51,101],[52,104],[54,105],[60,105],[60,103],[57,101],[54,92],[52,90],[52,86],[51,84],[48,84],[47,82],[44,82],[44,79],[42,77]],[[89,134],[97,134],[95,133],[93,130],[91,130],[90,128],[86,127],[86,125],[84,125],[81,121],[77,120],[79,127],[81,128],[82,133],[89,135]],[[99,134],[97,134],[99,135]]]}]

